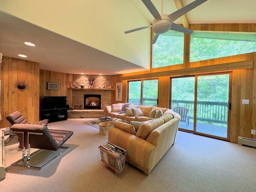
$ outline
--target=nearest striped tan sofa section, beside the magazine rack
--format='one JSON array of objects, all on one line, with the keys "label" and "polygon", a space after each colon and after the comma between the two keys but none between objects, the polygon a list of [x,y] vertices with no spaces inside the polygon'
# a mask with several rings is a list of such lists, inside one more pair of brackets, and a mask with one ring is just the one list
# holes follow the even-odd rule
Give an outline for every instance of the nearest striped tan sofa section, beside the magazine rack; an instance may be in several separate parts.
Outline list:
[{"label": "nearest striped tan sofa section, beside the magazine rack", "polygon": [[174,144],[179,122],[180,115],[172,110],[144,122],[130,121],[128,124],[113,121],[114,127],[108,131],[108,142],[126,149],[126,161],[148,176]]}]

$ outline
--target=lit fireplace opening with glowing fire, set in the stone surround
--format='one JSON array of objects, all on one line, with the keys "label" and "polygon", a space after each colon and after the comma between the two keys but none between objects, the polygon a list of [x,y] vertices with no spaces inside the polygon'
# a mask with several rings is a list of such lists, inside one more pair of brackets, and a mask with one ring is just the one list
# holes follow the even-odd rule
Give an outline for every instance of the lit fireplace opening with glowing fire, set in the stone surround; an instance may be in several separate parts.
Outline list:
[{"label": "lit fireplace opening with glowing fire, set in the stone surround", "polygon": [[84,94],[84,109],[100,109],[101,95]]}]

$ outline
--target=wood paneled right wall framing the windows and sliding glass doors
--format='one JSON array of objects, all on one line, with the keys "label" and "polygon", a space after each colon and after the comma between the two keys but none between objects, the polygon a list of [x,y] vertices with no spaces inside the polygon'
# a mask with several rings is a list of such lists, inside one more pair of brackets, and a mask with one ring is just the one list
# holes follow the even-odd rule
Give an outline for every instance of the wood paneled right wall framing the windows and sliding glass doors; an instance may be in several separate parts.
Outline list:
[{"label": "wood paneled right wall framing the windows and sliding glass doors", "polygon": [[[232,32],[256,32],[256,24],[191,24],[191,30],[201,31],[232,31]],[[210,60],[204,60],[199,62],[189,62],[189,41],[190,37],[185,35],[184,38],[184,63],[176,66],[166,66],[162,68],[154,68],[144,72],[135,72],[129,74],[118,75],[118,80],[122,80],[122,77],[126,77],[125,81],[122,81],[123,88],[127,84],[129,76],[130,80],[136,79],[134,75],[140,76],[140,78],[156,78],[154,73],[164,72],[164,76],[157,76],[158,81],[158,99],[160,107],[168,107],[170,100],[170,77],[173,70],[195,68],[202,66],[218,65],[218,64],[230,64],[232,62],[240,61],[253,61],[253,68],[250,69],[237,69],[226,70],[232,71],[232,108],[230,118],[230,142],[237,143],[238,136],[244,136],[248,138],[256,139],[255,135],[251,134],[251,129],[256,130],[256,52],[249,54],[240,54],[235,56],[216,58]],[[218,68],[216,67],[216,72]],[[168,75],[168,73],[170,73]],[[150,74],[150,75],[149,75]],[[186,74],[187,75],[187,74]],[[150,77],[149,77],[150,76]],[[176,75],[176,76],[182,76]],[[113,77],[115,79],[116,76]],[[127,87],[126,87],[127,89]],[[126,95],[125,95],[126,94]],[[168,96],[166,96],[168,95]],[[123,98],[127,100],[127,90],[123,89]],[[242,104],[242,99],[248,99],[249,104]],[[124,102],[126,102],[124,100]]]}]

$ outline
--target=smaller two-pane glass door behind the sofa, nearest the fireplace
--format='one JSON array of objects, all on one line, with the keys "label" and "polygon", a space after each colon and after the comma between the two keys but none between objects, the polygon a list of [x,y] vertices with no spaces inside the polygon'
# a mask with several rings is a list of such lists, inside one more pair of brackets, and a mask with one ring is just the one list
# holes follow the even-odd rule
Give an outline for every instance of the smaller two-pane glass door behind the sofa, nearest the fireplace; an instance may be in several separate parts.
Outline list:
[{"label": "smaller two-pane glass door behind the sofa, nearest the fireplace", "polygon": [[128,82],[128,102],[135,105],[156,106],[158,80],[139,80]]}]

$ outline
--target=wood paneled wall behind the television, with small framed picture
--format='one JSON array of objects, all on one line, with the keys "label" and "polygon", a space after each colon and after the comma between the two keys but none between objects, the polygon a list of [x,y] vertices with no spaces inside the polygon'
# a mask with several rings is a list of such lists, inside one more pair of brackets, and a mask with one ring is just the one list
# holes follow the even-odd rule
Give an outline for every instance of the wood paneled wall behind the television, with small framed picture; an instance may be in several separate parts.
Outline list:
[{"label": "wood paneled wall behind the television, with small framed picture", "polygon": [[[40,70],[40,103],[42,96],[67,96],[67,104],[72,106],[72,90],[68,90],[72,81],[72,74]],[[59,83],[59,90],[47,90],[47,82]],[[42,106],[40,106],[41,110]]]}]

